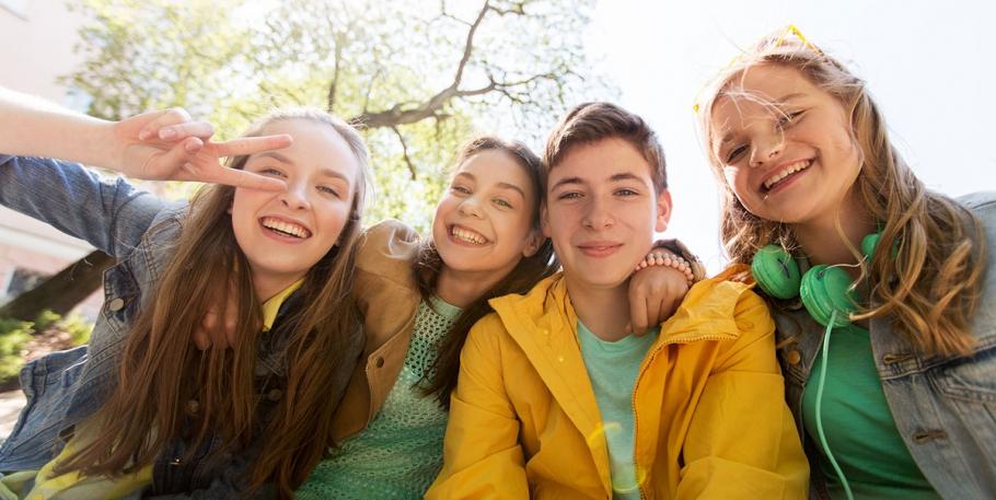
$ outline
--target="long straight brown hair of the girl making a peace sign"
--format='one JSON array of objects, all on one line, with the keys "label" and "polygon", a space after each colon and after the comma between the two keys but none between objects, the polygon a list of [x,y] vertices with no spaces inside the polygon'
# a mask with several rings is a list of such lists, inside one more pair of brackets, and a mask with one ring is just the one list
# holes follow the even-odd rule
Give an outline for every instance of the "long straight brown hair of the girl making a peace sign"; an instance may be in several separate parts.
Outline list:
[{"label": "long straight brown hair of the girl making a peace sign", "polygon": [[[360,165],[349,220],[338,243],[313,266],[297,292],[294,306],[263,334],[262,304],[252,271],[232,231],[235,188],[206,186],[192,200],[173,257],[159,286],[144,298],[128,334],[119,383],[94,416],[113,422],[96,440],[59,464],[85,475],[134,473],[152,464],[173,439],[188,439],[193,451],[213,432],[222,450],[246,450],[259,442],[251,488],[275,482],[281,498],[306,479],[333,445],[328,381],[351,372],[348,339],[360,335],[352,277],[360,214],[366,196],[368,153],[362,138],[345,121],[315,109],[273,114],[254,126],[258,135],[276,120],[302,119],[332,127]],[[231,159],[242,168],[248,156]],[[231,289],[230,289],[230,284]],[[193,333],[212,303],[238,298],[233,349],[199,351]],[[265,337],[266,336],[266,337]],[[260,341],[280,346],[286,367],[282,397],[269,419],[259,415],[260,389],[254,368]],[[196,400],[192,408],[188,402]]]}]

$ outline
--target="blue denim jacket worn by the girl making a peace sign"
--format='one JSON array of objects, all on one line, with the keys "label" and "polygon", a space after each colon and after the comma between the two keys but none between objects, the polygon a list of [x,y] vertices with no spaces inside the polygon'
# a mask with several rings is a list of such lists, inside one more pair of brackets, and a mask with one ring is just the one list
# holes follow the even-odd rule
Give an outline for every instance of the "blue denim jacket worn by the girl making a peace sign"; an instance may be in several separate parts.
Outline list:
[{"label": "blue denim jacket worn by the girl making a peace sign", "polygon": [[[125,337],[140,304],[158,283],[179,236],[186,206],[167,204],[139,191],[124,179],[103,181],[74,163],[0,155],[0,204],[47,222],[111,254],[118,263],[104,272],[104,304],[89,347],[55,352],[21,371],[27,404],[11,435],[0,445],[0,470],[37,469],[65,444],[60,434],[93,415],[117,383]],[[278,315],[293,309],[285,302]],[[357,356],[362,338],[352,339]],[[279,350],[260,350],[256,375],[282,380]],[[348,373],[347,373],[348,374]],[[346,381],[329,381],[329,397],[341,397]],[[269,389],[270,387],[266,387]],[[279,391],[266,391],[260,411],[268,412]],[[270,400],[267,402],[266,399]],[[240,482],[255,446],[242,453],[215,454],[220,439],[210,437],[189,461],[183,440],[174,440],[153,464],[144,498],[245,498]],[[256,497],[269,498],[264,488]]]}]

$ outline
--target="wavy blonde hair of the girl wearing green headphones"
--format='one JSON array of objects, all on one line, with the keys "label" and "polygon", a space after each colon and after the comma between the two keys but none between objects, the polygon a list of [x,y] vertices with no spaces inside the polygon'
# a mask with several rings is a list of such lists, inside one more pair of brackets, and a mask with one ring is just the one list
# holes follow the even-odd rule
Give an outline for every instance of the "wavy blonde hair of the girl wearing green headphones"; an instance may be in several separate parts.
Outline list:
[{"label": "wavy blonde hair of the girl wearing green headphones", "polygon": [[[870,303],[854,319],[892,315],[893,326],[925,354],[956,356],[971,351],[970,319],[978,305],[985,268],[985,237],[978,220],[943,195],[926,189],[892,142],[885,123],[865,82],[839,61],[801,38],[780,32],[764,37],[721,71],[703,91],[696,105],[709,163],[722,193],[720,237],[734,263],[749,264],[767,244],[799,252],[789,224],[761,219],[737,199],[722,176],[722,159],[711,144],[713,106],[722,96],[740,96],[734,84],[758,65],[799,71],[810,83],[836,98],[850,118],[862,165],[854,188],[868,213],[880,224],[883,242],[870,261],[861,263],[861,278],[870,278]],[[850,252],[861,255],[837,231]]]}]

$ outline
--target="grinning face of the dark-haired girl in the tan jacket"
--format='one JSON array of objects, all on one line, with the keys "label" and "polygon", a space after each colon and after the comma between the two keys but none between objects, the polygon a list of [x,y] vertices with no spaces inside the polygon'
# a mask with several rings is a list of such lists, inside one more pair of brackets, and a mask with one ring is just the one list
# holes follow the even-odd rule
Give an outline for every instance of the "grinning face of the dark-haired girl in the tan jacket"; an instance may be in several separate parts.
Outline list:
[{"label": "grinning face of the dark-haired girl in the tan jacket", "polygon": [[432,239],[444,272],[475,272],[497,281],[536,252],[532,220],[538,193],[525,167],[493,149],[466,159],[436,208]]}]

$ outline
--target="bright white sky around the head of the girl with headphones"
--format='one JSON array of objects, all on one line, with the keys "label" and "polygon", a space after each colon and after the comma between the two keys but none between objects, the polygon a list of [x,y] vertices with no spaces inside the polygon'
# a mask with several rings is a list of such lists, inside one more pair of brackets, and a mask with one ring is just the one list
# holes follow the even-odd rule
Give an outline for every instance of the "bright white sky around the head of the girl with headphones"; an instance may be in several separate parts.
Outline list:
[{"label": "bright white sky around the head of the girl with headphones", "polygon": [[589,54],[657,130],[674,208],[665,235],[722,269],[719,202],[693,101],[743,47],[795,24],[868,82],[928,188],[996,190],[996,2],[600,0]]}]

